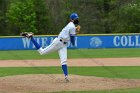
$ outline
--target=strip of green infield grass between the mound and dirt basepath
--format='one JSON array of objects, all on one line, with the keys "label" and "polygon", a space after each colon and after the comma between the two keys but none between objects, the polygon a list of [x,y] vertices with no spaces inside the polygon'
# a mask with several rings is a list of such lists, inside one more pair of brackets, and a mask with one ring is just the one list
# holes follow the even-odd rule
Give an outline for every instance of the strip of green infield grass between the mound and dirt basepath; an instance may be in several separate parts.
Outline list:
[{"label": "strip of green infield grass between the mound and dirt basepath", "polygon": [[[62,74],[61,67],[1,67],[0,76]],[[69,67],[69,74],[108,78],[140,79],[140,67]]]}]

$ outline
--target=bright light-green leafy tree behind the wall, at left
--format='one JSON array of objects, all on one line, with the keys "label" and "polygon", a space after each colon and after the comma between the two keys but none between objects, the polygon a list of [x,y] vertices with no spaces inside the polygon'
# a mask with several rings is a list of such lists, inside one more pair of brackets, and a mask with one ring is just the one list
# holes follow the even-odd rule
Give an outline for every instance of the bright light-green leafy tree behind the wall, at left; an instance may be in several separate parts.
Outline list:
[{"label": "bright light-green leafy tree behind the wall, at left", "polygon": [[16,26],[20,32],[37,32],[36,13],[34,0],[24,0],[12,2],[7,11],[7,18],[11,27]]}]

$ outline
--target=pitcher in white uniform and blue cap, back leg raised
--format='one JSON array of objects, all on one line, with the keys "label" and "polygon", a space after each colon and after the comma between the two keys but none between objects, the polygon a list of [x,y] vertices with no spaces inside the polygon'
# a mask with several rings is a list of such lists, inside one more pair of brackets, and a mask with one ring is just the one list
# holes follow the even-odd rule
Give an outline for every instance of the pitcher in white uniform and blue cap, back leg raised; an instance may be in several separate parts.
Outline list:
[{"label": "pitcher in white uniform and blue cap, back leg raised", "polygon": [[[30,38],[32,43],[35,45],[37,51],[41,54],[48,54],[53,51],[58,51],[62,70],[65,75],[66,82],[69,82],[68,70],[67,70],[67,42],[71,41],[72,45],[75,45],[75,35],[80,31],[79,16],[77,13],[70,15],[70,22],[62,29],[58,37],[56,37],[52,43],[42,48],[34,39],[32,32],[22,32],[20,35]],[[78,25],[78,26],[76,26]]]}]

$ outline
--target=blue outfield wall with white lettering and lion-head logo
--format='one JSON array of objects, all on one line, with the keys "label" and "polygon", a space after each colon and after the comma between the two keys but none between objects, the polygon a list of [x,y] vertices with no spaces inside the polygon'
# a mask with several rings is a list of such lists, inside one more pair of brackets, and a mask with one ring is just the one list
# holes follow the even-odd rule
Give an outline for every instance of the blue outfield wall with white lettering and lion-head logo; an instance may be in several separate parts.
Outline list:
[{"label": "blue outfield wall with white lettering and lion-head logo", "polygon": [[[56,36],[36,36],[37,42],[45,47]],[[140,34],[116,35],[80,35],[75,39],[75,47],[68,43],[68,48],[140,48]],[[0,50],[35,49],[30,39],[22,37],[0,37]]]}]

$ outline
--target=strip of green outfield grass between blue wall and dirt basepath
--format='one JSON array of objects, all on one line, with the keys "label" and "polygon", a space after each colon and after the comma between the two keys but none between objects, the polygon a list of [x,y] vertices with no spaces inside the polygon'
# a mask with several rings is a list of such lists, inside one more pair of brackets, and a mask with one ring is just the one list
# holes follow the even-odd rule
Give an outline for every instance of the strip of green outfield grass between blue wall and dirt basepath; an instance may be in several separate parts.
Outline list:
[{"label": "strip of green outfield grass between blue wall and dirt basepath", "polygon": [[[140,48],[121,49],[69,49],[68,58],[120,58],[140,57]],[[0,60],[58,59],[57,52],[41,56],[36,50],[0,51]]]}]

